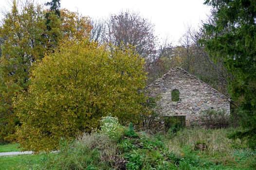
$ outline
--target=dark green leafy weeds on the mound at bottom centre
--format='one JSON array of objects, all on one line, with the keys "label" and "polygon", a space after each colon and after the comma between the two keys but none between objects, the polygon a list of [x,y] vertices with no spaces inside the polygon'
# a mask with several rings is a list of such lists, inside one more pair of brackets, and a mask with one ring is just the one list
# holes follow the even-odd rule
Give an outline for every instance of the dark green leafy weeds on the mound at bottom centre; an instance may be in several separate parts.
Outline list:
[{"label": "dark green leafy weeds on the mound at bottom centre", "polygon": [[172,169],[175,166],[167,161],[163,153],[163,138],[142,134],[140,138],[124,138],[118,149],[127,160],[128,170]]}]

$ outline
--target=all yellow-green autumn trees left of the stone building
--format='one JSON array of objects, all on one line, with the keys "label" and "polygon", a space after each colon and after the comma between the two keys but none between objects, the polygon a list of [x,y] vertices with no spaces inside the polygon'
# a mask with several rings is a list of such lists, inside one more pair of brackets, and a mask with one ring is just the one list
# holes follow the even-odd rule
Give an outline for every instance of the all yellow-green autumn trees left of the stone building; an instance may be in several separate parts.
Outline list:
[{"label": "all yellow-green autumn trees left of the stone building", "polygon": [[46,5],[13,0],[3,19],[0,141],[56,150],[60,139],[96,130],[108,114],[139,127],[150,113],[145,57],[130,43],[92,41],[88,17],[60,9],[59,0]]}]

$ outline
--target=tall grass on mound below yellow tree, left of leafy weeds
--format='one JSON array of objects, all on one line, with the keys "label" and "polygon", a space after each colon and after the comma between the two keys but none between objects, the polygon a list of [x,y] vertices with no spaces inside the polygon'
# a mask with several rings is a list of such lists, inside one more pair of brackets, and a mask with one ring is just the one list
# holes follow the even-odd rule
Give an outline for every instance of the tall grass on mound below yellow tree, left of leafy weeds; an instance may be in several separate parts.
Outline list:
[{"label": "tall grass on mound below yellow tree, left of leafy weeds", "polygon": [[99,134],[83,134],[74,142],[61,145],[60,152],[38,166],[38,170],[109,169],[117,152],[113,140]]}]

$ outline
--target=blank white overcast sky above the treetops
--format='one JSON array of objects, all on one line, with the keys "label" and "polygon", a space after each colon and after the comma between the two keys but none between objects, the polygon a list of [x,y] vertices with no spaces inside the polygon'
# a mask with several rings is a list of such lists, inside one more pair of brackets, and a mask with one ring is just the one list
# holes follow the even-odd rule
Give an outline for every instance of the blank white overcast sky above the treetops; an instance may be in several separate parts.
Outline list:
[{"label": "blank white overcast sky above the treetops", "polygon": [[[10,0],[0,0],[0,8]],[[44,3],[50,0],[35,0]],[[78,11],[91,18],[106,18],[120,11],[139,12],[155,25],[155,34],[173,44],[185,33],[187,25],[197,28],[206,19],[210,7],[204,0],[60,0],[61,8]]]}]

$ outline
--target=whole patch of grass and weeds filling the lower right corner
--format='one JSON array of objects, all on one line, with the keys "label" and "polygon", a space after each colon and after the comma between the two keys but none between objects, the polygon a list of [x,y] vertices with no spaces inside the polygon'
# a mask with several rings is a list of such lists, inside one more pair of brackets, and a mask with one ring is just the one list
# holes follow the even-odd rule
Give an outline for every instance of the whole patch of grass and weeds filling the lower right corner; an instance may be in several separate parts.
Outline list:
[{"label": "whole patch of grass and weeds filling the lower right corner", "polygon": [[246,141],[229,139],[227,135],[233,132],[234,129],[183,129],[176,136],[167,136],[170,138],[165,147],[172,152],[170,159],[183,169],[253,170],[255,151],[248,148]]}]

